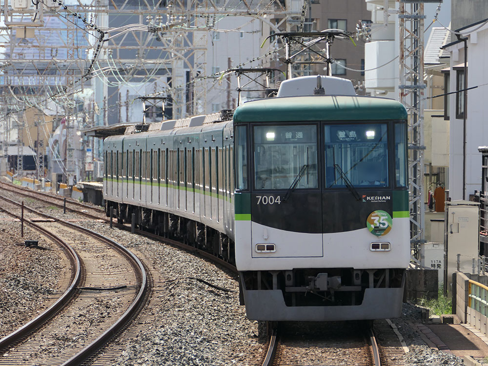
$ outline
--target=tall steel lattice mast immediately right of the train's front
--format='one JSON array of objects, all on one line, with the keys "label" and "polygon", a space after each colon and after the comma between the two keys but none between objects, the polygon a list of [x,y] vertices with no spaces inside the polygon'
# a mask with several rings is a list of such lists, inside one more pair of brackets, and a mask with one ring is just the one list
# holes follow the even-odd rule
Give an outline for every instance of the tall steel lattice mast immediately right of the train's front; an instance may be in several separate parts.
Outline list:
[{"label": "tall steel lattice mast immediately right of the train's front", "polygon": [[408,113],[410,240],[414,260],[425,242],[424,207],[424,2],[400,0],[400,102]]}]

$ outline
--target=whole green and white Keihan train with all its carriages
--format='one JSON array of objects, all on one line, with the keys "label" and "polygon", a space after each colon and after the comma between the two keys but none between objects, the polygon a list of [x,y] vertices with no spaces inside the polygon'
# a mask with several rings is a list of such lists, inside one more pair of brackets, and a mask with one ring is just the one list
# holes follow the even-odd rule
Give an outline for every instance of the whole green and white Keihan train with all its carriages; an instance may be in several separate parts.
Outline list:
[{"label": "whole green and white Keihan train with all its carriages", "polygon": [[134,213],[142,228],[235,263],[250,319],[399,316],[407,111],[355,95],[348,80],[318,81],[283,81],[232,120],[223,111],[106,138],[107,214]]}]

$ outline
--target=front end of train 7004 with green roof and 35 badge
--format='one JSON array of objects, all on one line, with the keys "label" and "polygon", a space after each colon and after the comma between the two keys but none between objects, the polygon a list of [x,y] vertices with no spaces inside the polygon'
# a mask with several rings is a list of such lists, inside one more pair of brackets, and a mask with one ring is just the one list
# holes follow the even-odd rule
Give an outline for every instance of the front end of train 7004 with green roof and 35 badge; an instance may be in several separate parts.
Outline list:
[{"label": "front end of train 7004 with green roof and 35 badge", "polygon": [[338,78],[322,77],[325,95],[311,95],[315,78],[299,79],[278,94],[295,96],[247,102],[234,114],[247,316],[398,317],[410,259],[406,109],[355,96]]}]

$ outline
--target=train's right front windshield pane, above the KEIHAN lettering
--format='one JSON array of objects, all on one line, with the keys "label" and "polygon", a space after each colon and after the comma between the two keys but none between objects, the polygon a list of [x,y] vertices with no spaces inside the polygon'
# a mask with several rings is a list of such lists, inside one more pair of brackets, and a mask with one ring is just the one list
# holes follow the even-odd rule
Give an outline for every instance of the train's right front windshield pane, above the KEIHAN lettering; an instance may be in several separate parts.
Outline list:
[{"label": "train's right front windshield pane, above the KEIHAN lettering", "polygon": [[386,124],[325,125],[325,183],[327,188],[388,186]]}]

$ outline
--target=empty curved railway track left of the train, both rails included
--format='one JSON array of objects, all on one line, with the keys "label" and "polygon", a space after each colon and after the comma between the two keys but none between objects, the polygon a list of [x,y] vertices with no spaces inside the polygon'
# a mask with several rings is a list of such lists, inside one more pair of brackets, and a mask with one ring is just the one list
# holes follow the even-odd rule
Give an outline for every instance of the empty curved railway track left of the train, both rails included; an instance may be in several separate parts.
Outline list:
[{"label": "empty curved railway track left of the train, both rails included", "polygon": [[[2,209],[20,218],[20,203],[0,196]],[[7,204],[5,204],[7,203]],[[7,208],[9,206],[10,208]],[[0,340],[0,365],[79,365],[137,313],[148,278],[139,259],[121,244],[81,226],[25,207],[25,222],[69,253],[72,280],[40,316]],[[71,245],[61,237],[69,236]],[[86,320],[88,319],[88,321]]]}]

